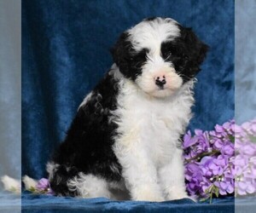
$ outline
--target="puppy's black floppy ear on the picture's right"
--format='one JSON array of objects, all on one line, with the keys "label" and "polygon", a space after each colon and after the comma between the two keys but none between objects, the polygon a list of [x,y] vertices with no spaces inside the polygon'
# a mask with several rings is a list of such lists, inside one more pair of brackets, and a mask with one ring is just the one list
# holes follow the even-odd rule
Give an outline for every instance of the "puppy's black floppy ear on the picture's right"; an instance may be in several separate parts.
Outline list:
[{"label": "puppy's black floppy ear on the picture's right", "polygon": [[207,55],[209,46],[206,43],[201,42],[201,40],[195,36],[195,33],[191,28],[183,27],[181,30],[181,37],[183,43],[185,43],[185,49],[188,52],[189,59],[193,61],[193,74],[200,71],[200,65]]}]

